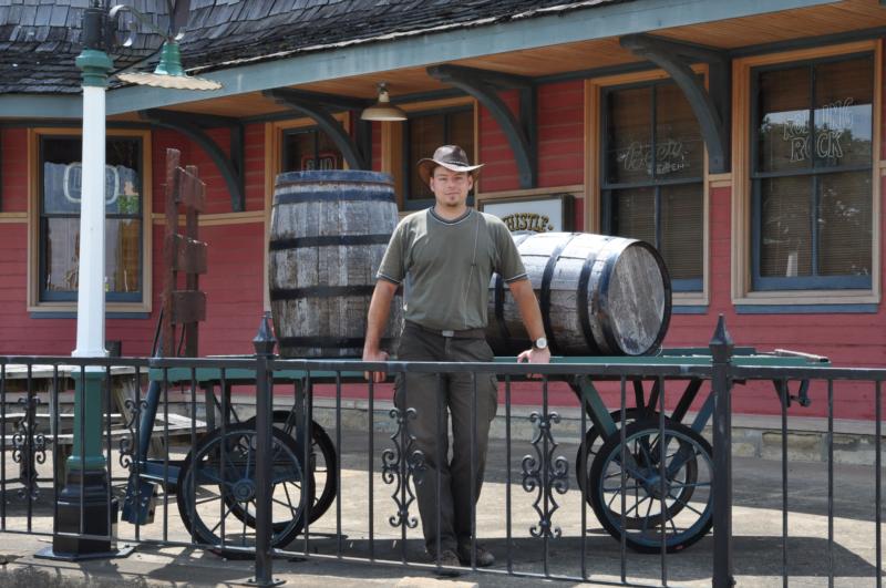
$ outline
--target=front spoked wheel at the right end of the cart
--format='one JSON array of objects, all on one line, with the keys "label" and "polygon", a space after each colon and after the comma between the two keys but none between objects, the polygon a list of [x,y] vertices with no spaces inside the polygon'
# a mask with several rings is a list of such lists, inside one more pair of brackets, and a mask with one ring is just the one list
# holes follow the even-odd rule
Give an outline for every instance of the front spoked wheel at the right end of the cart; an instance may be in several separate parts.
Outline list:
[{"label": "front spoked wheel at the right end of the cart", "polygon": [[710,443],[686,425],[666,424],[662,493],[661,437],[658,420],[628,424],[624,492],[620,435],[602,444],[590,467],[590,504],[597,518],[620,540],[624,499],[626,543],[640,553],[661,549],[662,529],[666,548],[673,553],[701,539],[712,524]]}]

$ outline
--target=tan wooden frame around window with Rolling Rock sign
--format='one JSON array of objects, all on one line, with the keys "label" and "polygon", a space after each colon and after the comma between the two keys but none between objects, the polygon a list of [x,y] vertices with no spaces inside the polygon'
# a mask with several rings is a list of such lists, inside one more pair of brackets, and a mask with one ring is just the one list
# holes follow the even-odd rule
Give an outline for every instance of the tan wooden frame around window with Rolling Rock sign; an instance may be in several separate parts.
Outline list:
[{"label": "tan wooden frame around window with Rolling Rock sign", "polygon": [[[814,167],[787,173],[758,173],[759,74],[793,66],[839,62],[873,55],[873,138],[868,165],[846,165],[815,169]],[[733,62],[733,124],[732,124],[732,220],[731,233],[731,295],[733,305],[866,305],[880,298],[880,120],[882,120],[883,56],[878,40],[858,41],[822,48],[767,53],[742,58]],[[814,80],[811,80],[814,83]],[[811,107],[814,105],[810,103]],[[869,171],[872,198],[872,239],[869,276],[808,276],[782,278],[760,276],[760,221],[762,213],[761,185],[767,177],[802,176],[810,178],[813,189],[818,178],[832,173]],[[810,196],[817,203],[817,195]],[[811,215],[812,218],[815,214]],[[814,225],[814,223],[813,223]],[[815,234],[813,229],[813,234]],[[814,264],[814,258],[813,258]]]}]

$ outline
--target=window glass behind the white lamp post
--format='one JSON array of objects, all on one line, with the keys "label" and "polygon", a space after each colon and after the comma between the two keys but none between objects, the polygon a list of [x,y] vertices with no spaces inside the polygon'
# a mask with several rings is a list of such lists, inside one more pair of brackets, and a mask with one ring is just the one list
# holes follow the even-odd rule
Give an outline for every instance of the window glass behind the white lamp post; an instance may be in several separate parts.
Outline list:
[{"label": "window glass behind the white lamp post", "polygon": [[[81,138],[38,134],[37,303],[76,300]],[[109,302],[144,302],[146,133],[109,133],[105,165],[105,291]]]}]

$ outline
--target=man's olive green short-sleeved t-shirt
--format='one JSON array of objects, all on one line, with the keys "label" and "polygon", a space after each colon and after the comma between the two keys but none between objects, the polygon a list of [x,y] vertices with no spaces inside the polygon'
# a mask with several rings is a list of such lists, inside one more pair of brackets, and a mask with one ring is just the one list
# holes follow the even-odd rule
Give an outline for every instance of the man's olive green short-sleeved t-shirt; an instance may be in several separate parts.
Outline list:
[{"label": "man's olive green short-sleeved t-shirt", "polygon": [[403,283],[408,321],[462,330],[486,327],[493,272],[506,283],[526,278],[505,224],[472,208],[461,218],[445,220],[429,208],[396,226],[378,277]]}]

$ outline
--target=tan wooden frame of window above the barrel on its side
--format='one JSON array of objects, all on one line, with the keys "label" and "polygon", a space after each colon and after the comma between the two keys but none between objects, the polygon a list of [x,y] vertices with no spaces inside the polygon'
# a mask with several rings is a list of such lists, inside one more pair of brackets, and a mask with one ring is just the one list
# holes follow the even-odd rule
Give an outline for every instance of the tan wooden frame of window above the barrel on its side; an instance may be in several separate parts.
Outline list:
[{"label": "tan wooden frame of window above the barrel on its side", "polygon": [[[703,76],[704,84],[708,84],[708,65],[694,64],[692,71]],[[604,180],[606,178],[605,162],[605,135],[606,135],[606,114],[604,92],[630,86],[642,86],[648,83],[672,82],[670,75],[663,70],[647,70],[640,72],[615,74],[600,78],[591,78],[585,81],[585,230],[589,233],[602,233],[608,209],[604,210],[606,198],[604,197]],[[702,137],[703,144],[703,137]],[[704,145],[704,144],[703,144]],[[672,305],[677,308],[686,307],[688,312],[698,312],[707,308],[710,303],[710,192],[712,188],[720,188],[723,182],[723,174],[712,175],[708,169],[708,148],[702,149],[702,276],[701,289],[678,290],[673,289]],[[696,180],[693,180],[696,182]],[[661,182],[667,185],[669,182]],[[686,179],[670,182],[680,185],[688,184]],[[624,184],[627,187],[629,184]],[[690,280],[687,280],[690,281]],[[694,281],[694,280],[691,280]],[[683,288],[688,285],[683,285]],[[693,285],[694,286],[694,285]]]}]

